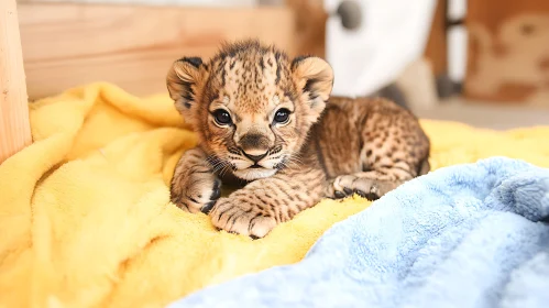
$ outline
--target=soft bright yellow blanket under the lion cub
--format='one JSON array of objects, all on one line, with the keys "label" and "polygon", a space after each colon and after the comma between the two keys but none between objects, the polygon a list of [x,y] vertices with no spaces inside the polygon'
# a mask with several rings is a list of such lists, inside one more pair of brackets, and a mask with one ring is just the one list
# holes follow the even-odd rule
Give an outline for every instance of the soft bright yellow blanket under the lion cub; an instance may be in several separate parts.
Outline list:
[{"label": "soft bright yellow blanket under the lion cub", "polygon": [[[298,262],[369,206],[322,201],[265,239],[217,232],[168,200],[196,144],[167,96],[95,84],[30,105],[34,144],[0,165],[1,307],[162,307],[207,285]],[[549,127],[493,132],[422,121],[432,168],[506,155],[549,167]]]}]

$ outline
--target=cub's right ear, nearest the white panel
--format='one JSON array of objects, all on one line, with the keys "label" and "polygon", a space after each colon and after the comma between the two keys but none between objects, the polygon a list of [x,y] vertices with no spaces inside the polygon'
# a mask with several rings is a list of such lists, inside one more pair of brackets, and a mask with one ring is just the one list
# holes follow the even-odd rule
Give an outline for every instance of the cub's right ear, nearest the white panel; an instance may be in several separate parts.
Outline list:
[{"label": "cub's right ear, nearest the white panel", "polygon": [[311,109],[320,114],[333,86],[331,66],[319,57],[300,56],[292,62],[292,75],[297,89],[309,96]]}]

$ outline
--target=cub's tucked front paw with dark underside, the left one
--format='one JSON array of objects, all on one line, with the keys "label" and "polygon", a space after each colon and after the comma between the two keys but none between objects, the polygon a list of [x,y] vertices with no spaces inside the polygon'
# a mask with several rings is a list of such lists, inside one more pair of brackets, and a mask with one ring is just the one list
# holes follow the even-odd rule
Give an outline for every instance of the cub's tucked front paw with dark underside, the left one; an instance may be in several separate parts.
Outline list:
[{"label": "cub's tucked front paw with dark underside, the left one", "polygon": [[180,209],[208,213],[221,196],[221,180],[211,173],[191,173],[174,178],[169,190],[172,202]]}]

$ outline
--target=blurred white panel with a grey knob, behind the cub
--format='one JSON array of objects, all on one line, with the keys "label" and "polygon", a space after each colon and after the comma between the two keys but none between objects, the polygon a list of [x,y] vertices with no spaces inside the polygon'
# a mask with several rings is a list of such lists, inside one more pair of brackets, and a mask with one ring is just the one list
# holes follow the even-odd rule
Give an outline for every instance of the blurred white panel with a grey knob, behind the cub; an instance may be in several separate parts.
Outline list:
[{"label": "blurred white panel with a grey knob, behind the cub", "polygon": [[[325,0],[334,12],[341,0]],[[362,23],[345,30],[327,21],[326,55],[334,70],[333,95],[366,96],[398,78],[425,50],[435,0],[358,0]]]}]

